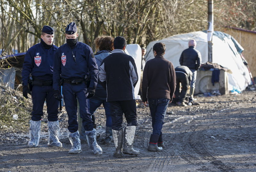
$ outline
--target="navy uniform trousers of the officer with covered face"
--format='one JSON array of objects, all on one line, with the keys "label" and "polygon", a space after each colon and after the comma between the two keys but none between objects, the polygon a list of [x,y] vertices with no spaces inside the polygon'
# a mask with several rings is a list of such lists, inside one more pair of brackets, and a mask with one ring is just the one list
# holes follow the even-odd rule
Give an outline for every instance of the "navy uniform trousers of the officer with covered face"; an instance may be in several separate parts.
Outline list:
[{"label": "navy uniform trousers of the officer with covered face", "polygon": [[[72,85],[69,83],[63,84],[63,98],[65,102],[66,111],[68,113],[68,130],[74,133],[78,130],[77,123],[77,100],[79,103],[80,117],[85,131],[93,130],[92,115],[90,114],[90,104],[87,98],[85,83]],[[77,100],[76,100],[77,99]]]}]

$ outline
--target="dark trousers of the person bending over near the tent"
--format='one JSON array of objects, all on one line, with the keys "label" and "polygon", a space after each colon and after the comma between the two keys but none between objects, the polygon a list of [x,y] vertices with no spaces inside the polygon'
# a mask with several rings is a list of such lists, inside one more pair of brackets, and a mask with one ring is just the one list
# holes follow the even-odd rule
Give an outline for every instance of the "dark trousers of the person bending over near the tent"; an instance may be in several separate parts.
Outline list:
[{"label": "dark trousers of the person bending over near the tent", "polygon": [[[182,86],[181,92],[180,92],[180,83]],[[186,98],[188,85],[189,85],[188,76],[186,76],[183,73],[176,72],[176,90],[174,94],[178,99],[178,102],[183,102],[184,99]]]}]

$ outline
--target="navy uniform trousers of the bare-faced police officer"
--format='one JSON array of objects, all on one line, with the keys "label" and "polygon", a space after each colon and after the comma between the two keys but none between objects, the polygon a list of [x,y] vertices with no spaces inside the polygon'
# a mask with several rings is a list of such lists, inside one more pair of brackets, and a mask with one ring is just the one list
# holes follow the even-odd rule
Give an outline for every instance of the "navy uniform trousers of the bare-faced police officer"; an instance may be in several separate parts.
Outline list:
[{"label": "navy uniform trousers of the bare-faced police officer", "polygon": [[39,121],[43,116],[44,101],[46,100],[48,121],[58,120],[58,106],[59,101],[53,97],[52,85],[49,86],[38,86],[33,85],[32,88],[32,120]]}]

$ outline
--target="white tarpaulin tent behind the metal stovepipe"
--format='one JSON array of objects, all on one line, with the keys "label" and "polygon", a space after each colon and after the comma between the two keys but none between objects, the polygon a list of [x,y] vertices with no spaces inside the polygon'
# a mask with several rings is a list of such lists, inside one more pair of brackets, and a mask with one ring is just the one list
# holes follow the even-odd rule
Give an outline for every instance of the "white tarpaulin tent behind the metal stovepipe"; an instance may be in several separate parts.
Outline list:
[{"label": "white tarpaulin tent behind the metal stovepipe", "polygon": [[[164,58],[171,61],[174,67],[180,66],[180,54],[188,48],[188,41],[196,40],[196,49],[202,55],[202,63],[208,61],[208,42],[207,34],[202,31],[190,32],[185,34],[173,35],[171,37],[152,41],[147,46],[146,61],[154,58],[153,46],[157,42],[162,42],[166,46]],[[248,84],[251,83],[251,78],[248,69],[243,63],[243,60],[238,53],[243,51],[243,48],[236,40],[228,34],[222,32],[214,32],[212,36],[212,62],[228,68],[232,74],[228,74],[228,89],[234,87],[245,90]],[[237,50],[238,49],[238,50]]]}]

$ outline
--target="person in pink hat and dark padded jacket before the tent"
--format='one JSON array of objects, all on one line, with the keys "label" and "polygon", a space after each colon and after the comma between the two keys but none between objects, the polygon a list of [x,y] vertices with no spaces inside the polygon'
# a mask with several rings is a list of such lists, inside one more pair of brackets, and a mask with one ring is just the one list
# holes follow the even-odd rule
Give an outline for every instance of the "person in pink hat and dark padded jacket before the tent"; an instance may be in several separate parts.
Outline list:
[{"label": "person in pink hat and dark padded jacket before the tent", "polygon": [[196,71],[201,66],[201,54],[196,50],[196,40],[192,39],[188,42],[188,49],[185,49],[180,55],[180,65],[187,66],[193,73],[190,83],[189,96],[193,100],[196,85]]}]

